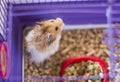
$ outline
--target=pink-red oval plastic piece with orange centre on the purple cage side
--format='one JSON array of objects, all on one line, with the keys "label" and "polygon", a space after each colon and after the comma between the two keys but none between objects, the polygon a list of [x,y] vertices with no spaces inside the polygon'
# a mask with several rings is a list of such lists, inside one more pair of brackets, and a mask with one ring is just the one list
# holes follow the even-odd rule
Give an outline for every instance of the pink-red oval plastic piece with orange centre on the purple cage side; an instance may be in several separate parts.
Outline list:
[{"label": "pink-red oval plastic piece with orange centre on the purple cage side", "polygon": [[10,73],[10,56],[8,45],[5,41],[0,42],[0,77],[7,79]]}]

